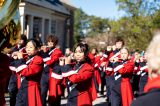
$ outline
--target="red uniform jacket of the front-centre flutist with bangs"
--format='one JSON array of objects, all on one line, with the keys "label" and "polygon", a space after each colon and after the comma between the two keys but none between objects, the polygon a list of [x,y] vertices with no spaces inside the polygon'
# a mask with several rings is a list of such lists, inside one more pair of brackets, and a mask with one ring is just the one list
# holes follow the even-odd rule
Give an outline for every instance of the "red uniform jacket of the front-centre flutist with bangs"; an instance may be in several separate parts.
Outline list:
[{"label": "red uniform jacket of the front-centre flutist with bangs", "polygon": [[[65,69],[66,68],[67,67],[65,67]],[[72,86],[75,86],[75,89],[73,88],[68,95],[68,104],[74,106],[91,106],[92,101],[97,97],[92,78],[94,69],[88,63],[84,63],[77,71],[78,72],[76,72],[76,70],[69,70],[62,73],[62,75],[72,83]],[[77,93],[75,93],[75,90]],[[70,101],[70,98],[77,98],[77,101],[74,101],[74,99]]]}]

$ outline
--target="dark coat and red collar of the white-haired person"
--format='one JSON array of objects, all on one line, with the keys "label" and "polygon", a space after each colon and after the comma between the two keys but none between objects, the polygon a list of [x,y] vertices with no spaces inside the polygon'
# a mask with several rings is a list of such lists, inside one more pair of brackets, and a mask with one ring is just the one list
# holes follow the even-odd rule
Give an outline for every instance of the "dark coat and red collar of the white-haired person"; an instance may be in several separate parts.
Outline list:
[{"label": "dark coat and red collar of the white-haired person", "polygon": [[160,76],[149,79],[144,95],[139,96],[132,102],[131,106],[160,106]]}]

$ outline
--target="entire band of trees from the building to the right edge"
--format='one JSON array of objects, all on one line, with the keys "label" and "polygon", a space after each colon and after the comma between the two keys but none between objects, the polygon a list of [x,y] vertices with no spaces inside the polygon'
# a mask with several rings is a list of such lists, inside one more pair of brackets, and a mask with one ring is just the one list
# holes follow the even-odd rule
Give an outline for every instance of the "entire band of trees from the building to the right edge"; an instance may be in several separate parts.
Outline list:
[{"label": "entire band of trees from the building to the right edge", "polygon": [[113,38],[122,37],[129,48],[145,50],[154,30],[160,28],[160,1],[116,0],[116,3],[119,10],[126,13],[118,20],[88,16],[78,9],[75,13],[75,38],[89,36],[96,39],[109,27]]}]

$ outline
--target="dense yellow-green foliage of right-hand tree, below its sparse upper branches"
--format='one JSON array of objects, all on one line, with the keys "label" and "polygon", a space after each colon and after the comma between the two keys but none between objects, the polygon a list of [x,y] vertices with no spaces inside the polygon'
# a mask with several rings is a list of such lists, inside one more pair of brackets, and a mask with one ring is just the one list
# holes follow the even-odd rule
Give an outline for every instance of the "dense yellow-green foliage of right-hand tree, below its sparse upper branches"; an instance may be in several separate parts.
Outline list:
[{"label": "dense yellow-green foliage of right-hand tree, below its sparse upper branches", "polygon": [[150,17],[139,16],[136,19],[124,17],[111,22],[112,32],[121,36],[130,48],[146,49],[152,38],[152,22]]}]

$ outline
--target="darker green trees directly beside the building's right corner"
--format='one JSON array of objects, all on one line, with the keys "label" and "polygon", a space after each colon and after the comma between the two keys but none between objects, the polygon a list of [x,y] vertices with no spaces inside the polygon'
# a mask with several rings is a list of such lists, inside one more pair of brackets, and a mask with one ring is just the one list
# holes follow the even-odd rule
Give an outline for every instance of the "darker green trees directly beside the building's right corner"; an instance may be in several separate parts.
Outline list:
[{"label": "darker green trees directly beside the building's right corner", "polygon": [[96,36],[106,31],[108,19],[87,15],[82,9],[74,13],[74,41],[79,42],[86,36]]}]

